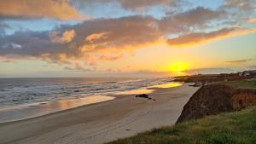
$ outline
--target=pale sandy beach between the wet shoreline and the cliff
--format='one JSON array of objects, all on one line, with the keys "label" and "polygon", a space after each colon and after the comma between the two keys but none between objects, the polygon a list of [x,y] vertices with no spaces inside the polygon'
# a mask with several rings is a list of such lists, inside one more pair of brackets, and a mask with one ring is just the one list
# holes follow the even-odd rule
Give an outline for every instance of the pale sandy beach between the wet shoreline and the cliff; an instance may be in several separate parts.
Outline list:
[{"label": "pale sandy beach between the wet shoreline and the cliff", "polygon": [[183,84],[151,89],[152,100],[114,95],[112,101],[0,124],[0,143],[101,144],[172,125],[198,88]]}]

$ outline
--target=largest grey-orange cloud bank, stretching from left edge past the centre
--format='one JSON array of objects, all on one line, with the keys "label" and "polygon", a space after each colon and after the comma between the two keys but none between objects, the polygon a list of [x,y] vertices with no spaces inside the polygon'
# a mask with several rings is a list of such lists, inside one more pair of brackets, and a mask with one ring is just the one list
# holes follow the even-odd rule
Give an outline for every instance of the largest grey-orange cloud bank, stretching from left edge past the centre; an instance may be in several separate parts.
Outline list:
[{"label": "largest grey-orange cloud bank, stretching from left edge past the centre", "polygon": [[129,16],[85,20],[49,32],[15,32],[0,37],[0,55],[96,66],[99,60],[117,60],[124,51],[157,41],[162,34],[156,23],[152,17]]}]

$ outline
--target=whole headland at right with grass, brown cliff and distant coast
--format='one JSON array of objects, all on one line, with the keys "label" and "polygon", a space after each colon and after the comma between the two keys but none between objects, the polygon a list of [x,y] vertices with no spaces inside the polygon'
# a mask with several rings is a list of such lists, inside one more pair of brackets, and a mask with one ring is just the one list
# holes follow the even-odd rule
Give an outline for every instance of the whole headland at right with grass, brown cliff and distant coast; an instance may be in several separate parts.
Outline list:
[{"label": "whole headland at right with grass, brown cliff and distant coast", "polygon": [[177,124],[109,144],[255,144],[255,78],[219,81],[223,75],[213,76],[218,79],[184,78],[204,85],[183,107]]}]

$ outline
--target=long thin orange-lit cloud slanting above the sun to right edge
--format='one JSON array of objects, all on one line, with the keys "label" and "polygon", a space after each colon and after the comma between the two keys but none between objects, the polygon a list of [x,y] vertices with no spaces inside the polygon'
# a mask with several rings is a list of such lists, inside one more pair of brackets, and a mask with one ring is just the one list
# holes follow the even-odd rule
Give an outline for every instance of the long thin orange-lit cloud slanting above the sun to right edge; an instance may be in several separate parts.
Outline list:
[{"label": "long thin orange-lit cloud slanting above the sun to right edge", "polygon": [[179,37],[168,39],[167,43],[169,43],[171,46],[191,46],[195,44],[207,43],[209,41],[218,40],[225,37],[236,37],[253,32],[256,32],[256,29],[226,27],[214,32],[195,32],[185,34]]}]

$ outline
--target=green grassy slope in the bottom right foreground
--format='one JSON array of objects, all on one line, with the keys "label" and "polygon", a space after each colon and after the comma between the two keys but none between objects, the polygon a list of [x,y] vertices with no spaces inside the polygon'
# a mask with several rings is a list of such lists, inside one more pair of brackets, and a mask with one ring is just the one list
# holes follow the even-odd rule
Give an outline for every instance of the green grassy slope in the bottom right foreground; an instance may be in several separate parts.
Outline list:
[{"label": "green grassy slope in the bottom right foreground", "polygon": [[255,144],[256,107],[154,129],[108,144]]}]

